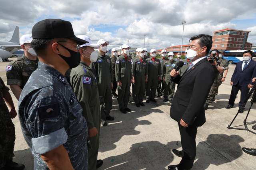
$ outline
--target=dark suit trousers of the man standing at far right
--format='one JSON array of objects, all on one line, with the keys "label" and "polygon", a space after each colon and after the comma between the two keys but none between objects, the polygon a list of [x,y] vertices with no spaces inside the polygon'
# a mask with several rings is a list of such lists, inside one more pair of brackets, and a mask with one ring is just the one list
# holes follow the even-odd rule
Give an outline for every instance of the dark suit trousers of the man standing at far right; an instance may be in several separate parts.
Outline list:
[{"label": "dark suit trousers of the man standing at far right", "polygon": [[240,102],[238,104],[238,106],[240,108],[242,103],[244,102],[244,99],[246,99],[246,96],[248,95],[250,89],[248,89],[248,87],[240,86],[239,82],[236,85],[232,86],[232,90],[231,90],[231,94],[230,94],[228,104],[234,106],[234,103],[235,103],[235,100],[236,100],[236,95],[237,95],[239,90],[241,91]]}]

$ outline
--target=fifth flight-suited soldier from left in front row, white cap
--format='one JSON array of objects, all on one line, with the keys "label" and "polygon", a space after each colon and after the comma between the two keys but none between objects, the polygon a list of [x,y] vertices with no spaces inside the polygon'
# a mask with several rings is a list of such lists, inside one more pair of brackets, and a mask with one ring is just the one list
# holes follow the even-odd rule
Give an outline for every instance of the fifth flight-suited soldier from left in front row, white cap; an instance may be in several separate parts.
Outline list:
[{"label": "fifth flight-suited soldier from left in front row, white cap", "polygon": [[156,103],[156,88],[158,81],[161,79],[161,63],[160,60],[156,58],[156,49],[150,50],[150,58],[148,61],[148,82],[146,84],[146,102],[149,100]]}]

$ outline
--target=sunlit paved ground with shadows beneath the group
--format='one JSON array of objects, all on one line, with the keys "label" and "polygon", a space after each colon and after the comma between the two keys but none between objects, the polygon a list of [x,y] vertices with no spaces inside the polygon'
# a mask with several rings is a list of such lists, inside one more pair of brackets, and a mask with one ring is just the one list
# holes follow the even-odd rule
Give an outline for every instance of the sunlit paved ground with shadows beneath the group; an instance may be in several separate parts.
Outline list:
[{"label": "sunlit paved ground with shadows beneath the group", "polygon": [[[12,60],[12,59],[10,59]],[[0,77],[6,83],[5,67],[9,62],[0,63]],[[247,130],[228,129],[238,111],[240,93],[234,108],[225,109],[231,92],[230,78],[236,65],[230,65],[226,81],[219,89],[216,101],[206,111],[206,123],[198,128],[196,138],[197,155],[193,170],[252,170],[256,168],[254,156],[242,152],[242,147],[256,148],[255,134]],[[16,110],[18,101],[10,91]],[[132,97],[130,99],[133,101]],[[145,107],[137,108],[134,102],[128,107],[132,112],[123,114],[119,111],[116,99],[110,113],[115,118],[108,121],[108,126],[101,127],[100,149],[98,158],[104,161],[98,170],[164,170],[168,165],[178,164],[179,157],[172,149],[181,149],[180,134],[177,122],[169,116],[170,103],[145,103]],[[249,100],[250,101],[250,100]],[[243,114],[239,114],[232,127],[244,128],[250,102]],[[256,106],[247,119],[248,128],[256,124]],[[14,161],[25,164],[26,170],[33,169],[33,158],[26,144],[18,117],[13,119],[16,127],[16,144]]]}]

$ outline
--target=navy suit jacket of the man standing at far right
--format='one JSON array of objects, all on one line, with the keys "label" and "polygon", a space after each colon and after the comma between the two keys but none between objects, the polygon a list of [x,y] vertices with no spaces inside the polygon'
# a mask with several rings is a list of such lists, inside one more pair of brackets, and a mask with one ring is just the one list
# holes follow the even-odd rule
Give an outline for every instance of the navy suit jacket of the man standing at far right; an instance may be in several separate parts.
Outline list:
[{"label": "navy suit jacket of the man standing at far right", "polygon": [[243,61],[240,61],[236,64],[236,68],[231,77],[233,85],[237,85],[238,83],[242,87],[247,87],[249,84],[254,85],[254,83],[252,83],[252,79],[256,77],[256,61],[251,60],[243,71],[242,64]]}]

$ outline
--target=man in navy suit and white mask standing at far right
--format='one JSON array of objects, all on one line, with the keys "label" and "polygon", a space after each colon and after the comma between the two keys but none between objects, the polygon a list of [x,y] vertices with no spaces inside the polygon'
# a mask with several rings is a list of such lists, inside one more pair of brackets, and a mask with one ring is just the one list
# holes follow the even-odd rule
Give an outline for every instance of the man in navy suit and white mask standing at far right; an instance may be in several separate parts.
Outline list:
[{"label": "man in navy suit and white mask standing at far right", "polygon": [[[236,68],[231,77],[230,85],[232,85],[232,90],[228,105],[225,107],[226,109],[230,109],[234,106],[236,95],[239,90],[241,91],[241,96],[238,107],[241,108],[250,88],[254,85],[252,79],[256,77],[256,62],[252,60],[252,54],[251,50],[244,51],[242,53],[244,61],[240,61],[236,64]],[[239,113],[243,112],[244,108],[241,108]]]}]

